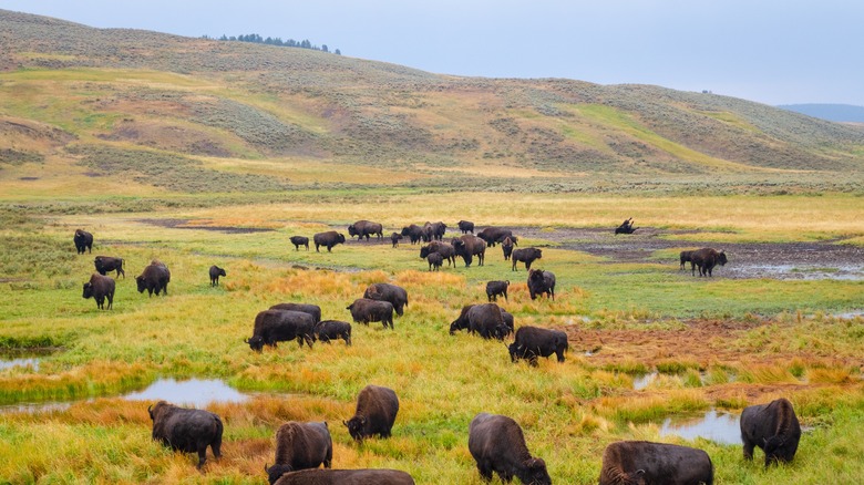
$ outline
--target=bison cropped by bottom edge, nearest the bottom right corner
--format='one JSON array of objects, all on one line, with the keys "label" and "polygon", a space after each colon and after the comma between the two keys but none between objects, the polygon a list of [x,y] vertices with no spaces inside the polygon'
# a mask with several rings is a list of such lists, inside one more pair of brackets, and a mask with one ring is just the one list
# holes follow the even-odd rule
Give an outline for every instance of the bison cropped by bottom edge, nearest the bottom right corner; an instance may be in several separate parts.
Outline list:
[{"label": "bison cropped by bottom edge, nearest the bottom right corner", "polygon": [[711,485],[714,467],[708,453],[666,443],[618,441],[603,452],[600,485]]}]

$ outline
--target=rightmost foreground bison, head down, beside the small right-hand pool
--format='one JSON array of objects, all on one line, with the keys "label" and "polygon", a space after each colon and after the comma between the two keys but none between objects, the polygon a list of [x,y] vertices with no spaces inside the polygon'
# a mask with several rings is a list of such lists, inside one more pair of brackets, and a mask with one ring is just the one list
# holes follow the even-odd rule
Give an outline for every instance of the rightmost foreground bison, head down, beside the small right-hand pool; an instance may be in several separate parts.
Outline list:
[{"label": "rightmost foreground bison, head down, beside the small right-hand pool", "polygon": [[791,462],[801,440],[801,425],[792,403],[781,398],[768,404],[744,407],[741,413],[741,441],[744,460],[753,460],[753,446],[765,452],[765,466]]}]

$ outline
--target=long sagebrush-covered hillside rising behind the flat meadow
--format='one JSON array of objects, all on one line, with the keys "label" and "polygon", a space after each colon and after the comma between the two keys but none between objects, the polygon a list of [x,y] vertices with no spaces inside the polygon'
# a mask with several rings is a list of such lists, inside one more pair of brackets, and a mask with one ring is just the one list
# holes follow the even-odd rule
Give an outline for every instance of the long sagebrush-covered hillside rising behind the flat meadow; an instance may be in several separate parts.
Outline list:
[{"label": "long sagebrush-covered hillside rising behind the flat meadow", "polygon": [[714,94],[438,75],[4,10],[0,47],[0,174],[64,161],[167,190],[230,192],[353,166],[380,172],[349,168],[347,183],[451,187],[864,173],[864,130]]}]

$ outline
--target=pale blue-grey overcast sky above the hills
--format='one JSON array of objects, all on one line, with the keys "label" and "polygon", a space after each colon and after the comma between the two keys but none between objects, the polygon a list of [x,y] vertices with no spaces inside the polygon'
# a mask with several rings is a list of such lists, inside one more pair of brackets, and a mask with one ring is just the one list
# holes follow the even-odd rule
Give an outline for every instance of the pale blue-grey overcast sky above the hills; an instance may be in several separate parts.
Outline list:
[{"label": "pale blue-grey overcast sky above the hills", "polygon": [[442,74],[864,106],[862,0],[0,0],[0,8],[99,28],[308,39]]}]

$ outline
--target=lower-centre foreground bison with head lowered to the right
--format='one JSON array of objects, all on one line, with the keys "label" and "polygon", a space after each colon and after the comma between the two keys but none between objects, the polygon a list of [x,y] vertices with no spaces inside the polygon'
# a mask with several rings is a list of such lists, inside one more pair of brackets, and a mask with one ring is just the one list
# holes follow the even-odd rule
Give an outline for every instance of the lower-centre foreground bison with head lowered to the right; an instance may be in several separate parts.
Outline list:
[{"label": "lower-centre foreground bison with head lowered to the right", "polygon": [[495,472],[504,483],[515,476],[523,484],[552,485],[546,463],[531,456],[522,427],[512,417],[488,413],[474,416],[469,425],[469,451],[484,482],[490,482]]}]

